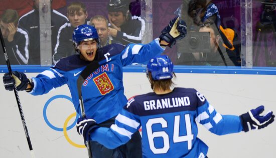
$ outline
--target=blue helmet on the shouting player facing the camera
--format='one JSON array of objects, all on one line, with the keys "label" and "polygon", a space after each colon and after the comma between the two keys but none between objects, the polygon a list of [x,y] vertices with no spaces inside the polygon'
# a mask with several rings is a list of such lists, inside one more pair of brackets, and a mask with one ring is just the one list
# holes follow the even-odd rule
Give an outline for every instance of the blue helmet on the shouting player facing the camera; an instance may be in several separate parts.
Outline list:
[{"label": "blue helmet on the shouting player facing the camera", "polygon": [[81,24],[74,29],[73,42],[79,45],[81,41],[96,40],[99,44],[99,35],[96,28],[88,24]]}]

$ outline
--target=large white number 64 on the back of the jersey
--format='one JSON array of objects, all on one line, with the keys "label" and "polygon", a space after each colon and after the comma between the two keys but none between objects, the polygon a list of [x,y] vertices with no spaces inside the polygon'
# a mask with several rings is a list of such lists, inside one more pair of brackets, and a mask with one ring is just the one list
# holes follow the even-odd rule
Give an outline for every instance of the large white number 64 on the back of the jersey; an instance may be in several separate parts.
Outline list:
[{"label": "large white number 64 on the back of the jersey", "polygon": [[[190,114],[185,114],[185,124],[186,124],[186,131],[187,135],[182,135],[179,136],[179,126],[180,126],[180,115],[175,116],[175,121],[174,121],[174,133],[173,133],[173,142],[182,142],[182,141],[187,141],[188,143],[188,149],[192,148],[192,140],[194,138],[194,134],[192,134],[192,127],[191,127],[191,120],[190,120]],[[148,120],[146,123],[146,128],[147,128],[147,134],[148,134],[148,139],[150,143],[150,148],[151,150],[155,153],[167,153],[168,150],[170,149],[170,142],[169,142],[169,135],[167,134],[166,131],[155,131],[153,132],[152,130],[152,125],[160,123],[162,125],[162,128],[167,128],[168,123],[163,117],[158,117],[158,118],[151,118]],[[154,138],[155,137],[162,137],[163,138],[163,144],[164,146],[162,148],[156,148],[155,143],[154,143]]]}]

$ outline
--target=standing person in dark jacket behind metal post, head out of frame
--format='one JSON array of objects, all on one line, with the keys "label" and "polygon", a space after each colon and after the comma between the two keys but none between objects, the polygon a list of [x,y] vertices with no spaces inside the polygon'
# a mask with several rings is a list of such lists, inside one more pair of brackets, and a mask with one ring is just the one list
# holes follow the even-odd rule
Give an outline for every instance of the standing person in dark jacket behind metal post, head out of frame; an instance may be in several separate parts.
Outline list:
[{"label": "standing person in dark jacket behind metal post, head out of frame", "polygon": [[[33,10],[20,17],[19,27],[26,29],[30,38],[29,64],[40,64],[39,0],[34,0],[33,7]],[[48,8],[44,7],[43,11],[47,12]],[[52,54],[57,43],[58,29],[66,21],[68,19],[65,15],[51,8]]]}]

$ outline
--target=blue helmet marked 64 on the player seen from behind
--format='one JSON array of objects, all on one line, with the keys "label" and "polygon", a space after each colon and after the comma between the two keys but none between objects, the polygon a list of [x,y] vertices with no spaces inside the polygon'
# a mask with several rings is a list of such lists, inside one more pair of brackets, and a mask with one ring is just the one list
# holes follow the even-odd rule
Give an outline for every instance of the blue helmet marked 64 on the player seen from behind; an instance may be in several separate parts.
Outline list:
[{"label": "blue helmet marked 64 on the player seen from behind", "polygon": [[173,78],[174,64],[167,55],[153,57],[147,64],[147,75],[152,73],[153,80]]}]

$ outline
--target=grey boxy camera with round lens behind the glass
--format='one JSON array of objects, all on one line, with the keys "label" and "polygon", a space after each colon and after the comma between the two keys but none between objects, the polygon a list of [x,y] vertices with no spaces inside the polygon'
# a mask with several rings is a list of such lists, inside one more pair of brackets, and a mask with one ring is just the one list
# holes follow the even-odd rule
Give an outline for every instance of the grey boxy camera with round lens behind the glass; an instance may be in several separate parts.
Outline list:
[{"label": "grey boxy camera with round lens behind the glass", "polygon": [[177,52],[211,52],[210,32],[187,32],[186,37],[177,42]]}]

